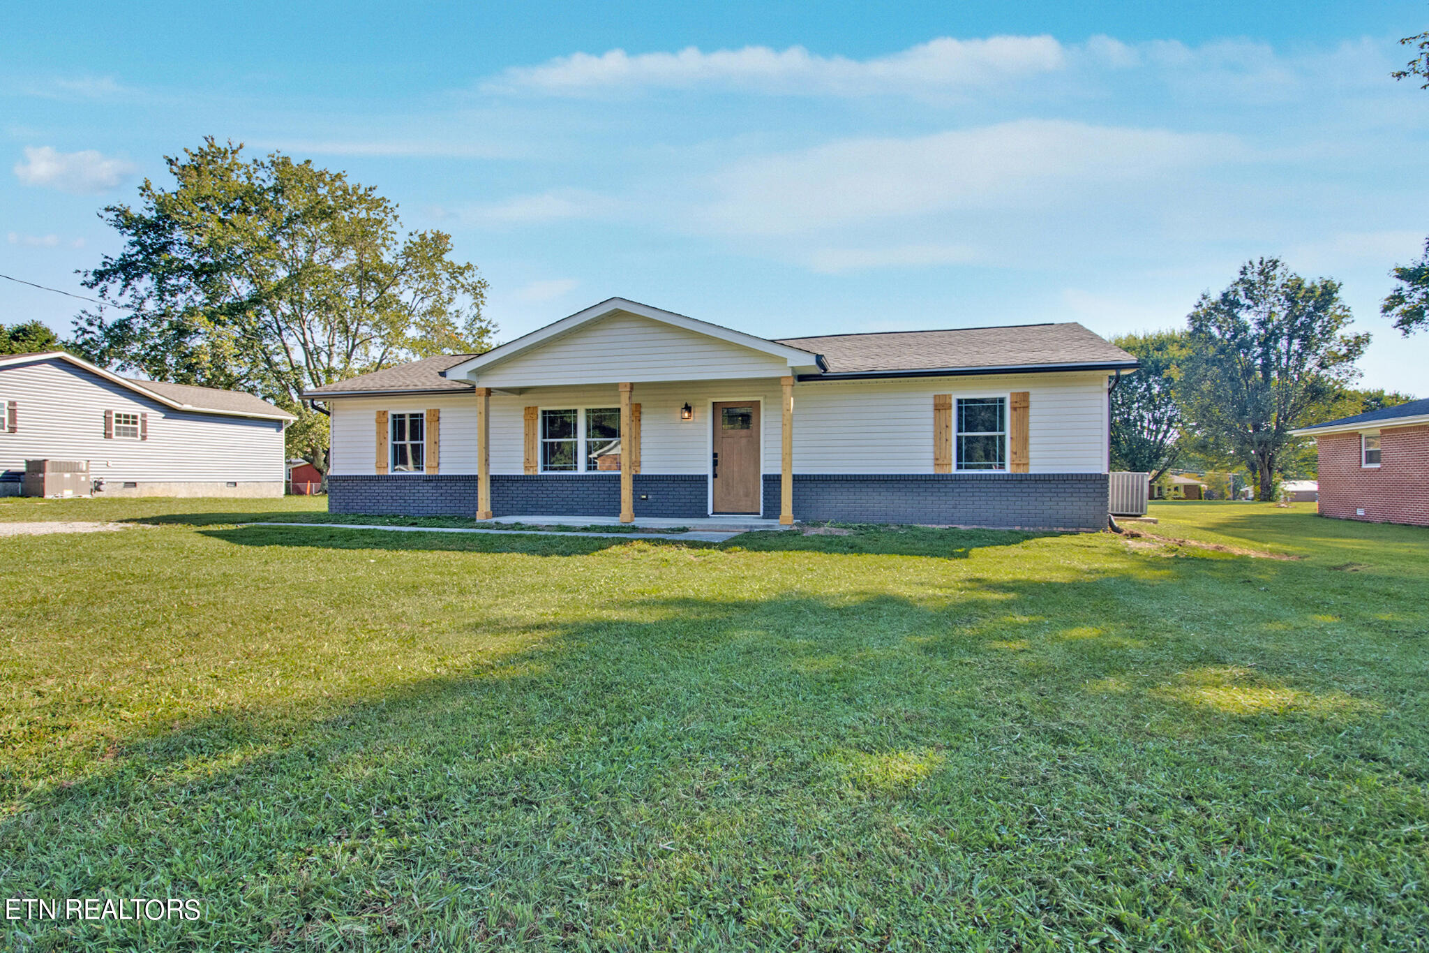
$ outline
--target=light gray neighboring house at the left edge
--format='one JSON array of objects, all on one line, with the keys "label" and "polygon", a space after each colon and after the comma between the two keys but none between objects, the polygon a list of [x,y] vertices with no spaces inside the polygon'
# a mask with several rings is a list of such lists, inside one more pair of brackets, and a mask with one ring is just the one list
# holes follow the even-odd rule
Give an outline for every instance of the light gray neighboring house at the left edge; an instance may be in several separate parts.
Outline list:
[{"label": "light gray neighboring house at the left edge", "polygon": [[283,429],[253,394],[129,380],[63,351],[0,356],[0,476],[89,461],[96,496],[283,496]]}]

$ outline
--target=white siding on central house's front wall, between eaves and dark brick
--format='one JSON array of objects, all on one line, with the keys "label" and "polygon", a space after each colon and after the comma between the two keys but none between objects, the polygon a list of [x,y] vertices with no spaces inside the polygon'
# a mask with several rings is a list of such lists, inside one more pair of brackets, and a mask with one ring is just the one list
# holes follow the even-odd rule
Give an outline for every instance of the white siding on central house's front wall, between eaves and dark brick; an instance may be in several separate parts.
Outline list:
[{"label": "white siding on central house's front wall, between eaves and dark brick", "polygon": [[[622,377],[622,380],[624,380]],[[613,383],[532,387],[492,394],[492,473],[524,471],[526,407],[613,407]],[[796,473],[932,473],[933,394],[985,397],[1029,391],[1032,473],[1106,471],[1106,374],[1016,374],[902,380],[802,381],[795,387]],[[777,379],[636,383],[642,473],[709,473],[710,404],[762,400],[763,471],[779,471]],[[680,406],[694,420],[680,420]],[[476,397],[343,397],[332,400],[333,473],[374,473],[377,410],[442,410],[442,473],[476,473]],[[150,439],[153,439],[150,436]]]}]

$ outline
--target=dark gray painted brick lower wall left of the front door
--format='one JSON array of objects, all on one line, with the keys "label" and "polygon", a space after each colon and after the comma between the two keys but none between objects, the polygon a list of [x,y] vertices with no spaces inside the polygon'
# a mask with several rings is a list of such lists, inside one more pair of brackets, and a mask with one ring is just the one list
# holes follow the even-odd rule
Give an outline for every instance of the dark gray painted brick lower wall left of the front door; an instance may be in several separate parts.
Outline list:
[{"label": "dark gray painted brick lower wall left of the front door", "polygon": [[[699,519],[709,504],[703,474],[634,474],[634,514]],[[330,513],[473,516],[476,474],[327,477]],[[496,516],[617,516],[619,473],[492,474]]]}]

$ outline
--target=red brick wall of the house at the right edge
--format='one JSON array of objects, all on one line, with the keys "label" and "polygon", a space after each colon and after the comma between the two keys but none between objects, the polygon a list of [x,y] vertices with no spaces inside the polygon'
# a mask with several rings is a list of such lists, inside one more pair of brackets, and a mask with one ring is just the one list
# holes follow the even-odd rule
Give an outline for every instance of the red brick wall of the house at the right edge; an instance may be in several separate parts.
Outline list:
[{"label": "red brick wall of the house at the right edge", "polygon": [[1429,426],[1382,430],[1379,467],[1360,466],[1358,433],[1326,434],[1316,444],[1320,516],[1429,526]]}]

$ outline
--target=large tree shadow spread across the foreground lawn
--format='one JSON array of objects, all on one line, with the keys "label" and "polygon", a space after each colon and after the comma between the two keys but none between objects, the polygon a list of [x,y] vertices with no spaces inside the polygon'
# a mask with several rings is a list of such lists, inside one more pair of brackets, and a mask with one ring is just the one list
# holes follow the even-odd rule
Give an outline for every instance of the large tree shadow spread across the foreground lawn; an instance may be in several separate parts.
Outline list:
[{"label": "large tree shadow spread across the foreground lawn", "polygon": [[[1007,944],[1113,920],[1153,944],[1167,922],[1200,940],[1423,926],[1413,896],[1359,876],[1373,857],[1352,873],[1295,849],[1326,830],[1349,849],[1368,823],[1332,776],[1368,772],[1376,810],[1412,813],[1392,766],[1355,762],[1373,709],[1269,670],[1216,676],[1223,640],[1186,636],[1185,599],[1105,572],[956,596],[619,600],[447,676],[137,730],[0,822],[4,877],[31,894],[206,900],[183,930],[84,924],[54,932],[56,949],[952,946],[969,924]],[[490,614],[470,632],[532,627]],[[1308,624],[1298,646],[1323,650]],[[1249,687],[1262,694],[1238,703]],[[1415,843],[1379,849],[1386,869],[1423,867]],[[1250,876],[1272,862],[1276,879]],[[1313,913],[1325,890],[1365,916]]]}]

